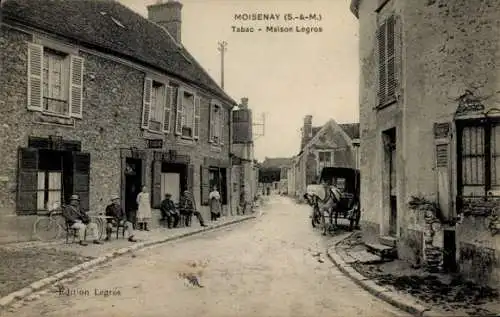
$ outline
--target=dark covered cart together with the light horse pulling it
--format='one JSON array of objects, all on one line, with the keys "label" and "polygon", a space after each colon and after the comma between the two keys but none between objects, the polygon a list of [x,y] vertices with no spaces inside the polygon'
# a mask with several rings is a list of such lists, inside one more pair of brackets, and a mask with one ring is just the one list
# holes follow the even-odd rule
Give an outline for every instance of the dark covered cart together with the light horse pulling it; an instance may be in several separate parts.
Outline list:
[{"label": "dark covered cart together with the light horse pulling it", "polygon": [[[313,207],[311,224],[323,228],[323,234],[338,226],[338,218],[349,220],[349,230],[359,228],[359,170],[344,167],[325,167],[321,171],[321,185],[307,186],[304,195]],[[335,220],[335,221],[334,221]]]}]

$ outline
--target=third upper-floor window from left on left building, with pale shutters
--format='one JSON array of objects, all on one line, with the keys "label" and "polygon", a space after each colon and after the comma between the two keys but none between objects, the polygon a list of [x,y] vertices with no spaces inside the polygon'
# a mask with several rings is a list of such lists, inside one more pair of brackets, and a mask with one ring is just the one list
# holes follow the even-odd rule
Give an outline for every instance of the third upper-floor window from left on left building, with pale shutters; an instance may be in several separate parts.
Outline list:
[{"label": "third upper-floor window from left on left building, with pale shutters", "polygon": [[175,132],[188,139],[198,139],[200,135],[200,97],[184,89],[179,89]]}]

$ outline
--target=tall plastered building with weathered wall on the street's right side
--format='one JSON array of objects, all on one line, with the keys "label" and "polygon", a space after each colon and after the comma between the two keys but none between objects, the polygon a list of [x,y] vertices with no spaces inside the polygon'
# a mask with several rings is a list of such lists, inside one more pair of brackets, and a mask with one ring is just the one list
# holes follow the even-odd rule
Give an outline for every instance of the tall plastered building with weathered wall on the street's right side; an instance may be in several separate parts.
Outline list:
[{"label": "tall plastered building with weathered wall on the street's right side", "polygon": [[500,2],[352,0],[351,11],[365,239],[422,258],[429,232],[409,201],[423,197],[439,206],[443,267],[498,285]]}]

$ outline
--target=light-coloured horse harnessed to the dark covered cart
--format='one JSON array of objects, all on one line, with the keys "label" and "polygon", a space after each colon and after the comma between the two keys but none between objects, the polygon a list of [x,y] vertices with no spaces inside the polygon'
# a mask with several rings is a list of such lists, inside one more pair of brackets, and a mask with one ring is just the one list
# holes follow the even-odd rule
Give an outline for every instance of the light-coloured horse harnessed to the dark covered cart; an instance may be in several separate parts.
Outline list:
[{"label": "light-coloured horse harnessed to the dark covered cart", "polygon": [[[333,225],[333,213],[335,212],[335,226],[337,226],[337,218],[339,210],[337,205],[342,199],[342,193],[336,186],[328,185],[310,185],[304,198],[310,206],[314,208],[312,215],[312,223],[315,226],[316,217],[321,217],[321,225],[323,226],[323,235],[326,235],[328,229]],[[330,218],[329,226],[326,225],[325,212]]]}]

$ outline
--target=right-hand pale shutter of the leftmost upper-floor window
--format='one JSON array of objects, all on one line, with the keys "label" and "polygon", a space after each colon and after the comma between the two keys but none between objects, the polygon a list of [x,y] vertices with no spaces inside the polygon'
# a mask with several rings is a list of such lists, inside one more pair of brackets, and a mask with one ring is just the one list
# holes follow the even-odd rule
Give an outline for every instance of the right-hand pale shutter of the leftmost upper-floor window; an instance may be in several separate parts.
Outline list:
[{"label": "right-hand pale shutter of the leftmost upper-floor window", "polygon": [[75,118],[83,117],[83,58],[71,55],[70,58],[69,111]]}]

